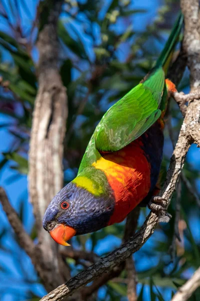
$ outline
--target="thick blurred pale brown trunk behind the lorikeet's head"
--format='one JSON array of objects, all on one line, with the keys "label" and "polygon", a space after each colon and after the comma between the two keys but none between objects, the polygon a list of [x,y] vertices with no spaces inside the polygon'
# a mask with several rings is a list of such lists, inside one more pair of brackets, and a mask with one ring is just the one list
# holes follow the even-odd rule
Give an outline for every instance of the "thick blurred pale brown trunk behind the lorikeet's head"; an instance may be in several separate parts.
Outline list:
[{"label": "thick blurred pale brown trunk behind the lorikeet's head", "polygon": [[[63,187],[62,155],[67,117],[66,91],[58,70],[57,21],[63,0],[46,1],[48,18],[38,35],[38,92],[35,99],[29,150],[29,198],[38,233],[39,276],[49,291],[63,283],[57,245],[42,227],[42,217],[53,196]],[[42,18],[42,13],[41,13]],[[43,20],[40,20],[42,23]],[[66,270],[66,268],[65,268]]]}]

